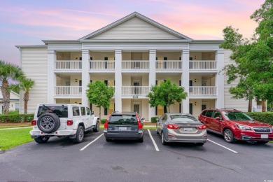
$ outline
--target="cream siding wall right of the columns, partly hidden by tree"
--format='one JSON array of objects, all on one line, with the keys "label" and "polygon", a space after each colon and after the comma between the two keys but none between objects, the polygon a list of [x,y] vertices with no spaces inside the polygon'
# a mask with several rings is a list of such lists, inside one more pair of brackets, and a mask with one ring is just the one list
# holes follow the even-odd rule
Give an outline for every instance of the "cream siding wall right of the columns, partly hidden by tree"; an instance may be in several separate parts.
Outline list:
[{"label": "cream siding wall right of the columns, partly hidden by tree", "polygon": [[[225,65],[232,64],[230,60],[231,55],[230,50],[225,50]],[[247,111],[248,109],[248,101],[245,99],[232,99],[232,94],[230,94],[230,87],[235,87],[238,83],[238,80],[233,81],[230,85],[227,83],[228,76],[225,76],[225,108],[233,108],[238,109],[240,111]]]}]

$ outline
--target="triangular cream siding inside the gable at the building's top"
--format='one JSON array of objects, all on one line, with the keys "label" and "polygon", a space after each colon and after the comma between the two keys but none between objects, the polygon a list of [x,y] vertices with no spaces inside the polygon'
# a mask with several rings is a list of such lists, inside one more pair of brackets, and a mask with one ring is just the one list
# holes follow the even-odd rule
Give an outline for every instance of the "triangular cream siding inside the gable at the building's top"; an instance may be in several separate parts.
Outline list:
[{"label": "triangular cream siding inside the gable at the building's top", "polygon": [[181,39],[139,18],[132,18],[91,39]]}]

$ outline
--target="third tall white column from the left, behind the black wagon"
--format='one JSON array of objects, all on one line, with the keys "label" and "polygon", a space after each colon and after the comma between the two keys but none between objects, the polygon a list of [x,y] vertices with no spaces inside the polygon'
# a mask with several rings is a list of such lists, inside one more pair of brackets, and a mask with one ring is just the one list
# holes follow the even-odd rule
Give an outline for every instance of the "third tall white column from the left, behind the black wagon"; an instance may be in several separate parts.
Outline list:
[{"label": "third tall white column from the left, behind the black wagon", "polygon": [[115,111],[123,111],[123,103],[121,99],[121,87],[123,85],[123,76],[121,50],[115,50]]}]

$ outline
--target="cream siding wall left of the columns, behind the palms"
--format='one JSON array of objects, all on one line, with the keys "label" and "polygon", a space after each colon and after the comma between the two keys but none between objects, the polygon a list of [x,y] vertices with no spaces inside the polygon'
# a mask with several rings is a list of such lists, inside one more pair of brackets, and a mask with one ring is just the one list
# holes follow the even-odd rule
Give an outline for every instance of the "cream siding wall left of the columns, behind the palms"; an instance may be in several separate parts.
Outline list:
[{"label": "cream siding wall left of the columns, behind the palms", "polygon": [[[48,49],[22,48],[21,66],[27,78],[35,85],[29,92],[28,113],[34,113],[36,105],[46,103],[48,97]],[[20,113],[24,113],[24,93],[20,92]]]}]

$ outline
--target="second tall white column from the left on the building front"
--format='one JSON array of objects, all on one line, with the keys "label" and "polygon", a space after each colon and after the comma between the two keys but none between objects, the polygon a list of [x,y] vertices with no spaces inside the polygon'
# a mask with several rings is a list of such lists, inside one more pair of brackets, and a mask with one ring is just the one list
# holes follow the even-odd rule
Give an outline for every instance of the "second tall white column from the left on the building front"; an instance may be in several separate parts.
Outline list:
[{"label": "second tall white column from the left on the building front", "polygon": [[90,53],[89,50],[83,49],[82,50],[82,71],[81,71],[81,81],[82,81],[82,94],[81,94],[81,103],[83,105],[88,105],[88,99],[86,96],[86,90],[87,90],[87,85],[90,82],[90,76],[89,76],[89,58],[90,58]]}]

